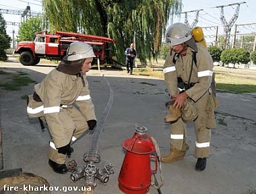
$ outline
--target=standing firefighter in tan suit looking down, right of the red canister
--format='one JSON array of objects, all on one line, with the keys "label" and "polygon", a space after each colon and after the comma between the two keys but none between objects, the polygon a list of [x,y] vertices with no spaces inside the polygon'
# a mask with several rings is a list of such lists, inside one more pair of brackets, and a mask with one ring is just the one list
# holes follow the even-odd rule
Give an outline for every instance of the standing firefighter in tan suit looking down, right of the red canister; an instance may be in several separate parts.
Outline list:
[{"label": "standing firefighter in tan suit looking down, right of the red canister", "polygon": [[[215,97],[211,83],[213,60],[203,44],[196,43],[191,30],[183,23],[172,24],[166,30],[166,44],[172,46],[164,63],[164,82],[170,102],[170,153],[161,162],[183,160],[189,149],[186,142],[186,122],[195,127],[195,170],[205,170],[210,156],[211,129],[216,127]],[[178,88],[178,87],[179,88]]]}]

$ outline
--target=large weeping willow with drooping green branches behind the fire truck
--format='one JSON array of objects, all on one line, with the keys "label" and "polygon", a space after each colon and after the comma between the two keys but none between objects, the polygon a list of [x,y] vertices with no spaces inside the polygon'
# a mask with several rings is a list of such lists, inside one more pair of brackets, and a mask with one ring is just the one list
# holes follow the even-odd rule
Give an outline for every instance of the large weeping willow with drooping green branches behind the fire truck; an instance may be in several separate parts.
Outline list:
[{"label": "large weeping willow with drooping green branches behind the fire truck", "polygon": [[179,14],[182,0],[42,0],[51,31],[81,32],[115,40],[118,61],[135,42],[137,57],[146,64],[160,51],[170,14]]}]

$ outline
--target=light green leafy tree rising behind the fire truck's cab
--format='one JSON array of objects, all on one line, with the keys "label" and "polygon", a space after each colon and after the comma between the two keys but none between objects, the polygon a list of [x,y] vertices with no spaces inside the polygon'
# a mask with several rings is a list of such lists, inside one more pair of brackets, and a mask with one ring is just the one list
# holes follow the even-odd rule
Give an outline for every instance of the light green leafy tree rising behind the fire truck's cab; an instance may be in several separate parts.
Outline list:
[{"label": "light green leafy tree rising behind the fire truck's cab", "polygon": [[42,31],[42,20],[39,17],[29,18],[27,22],[22,22],[18,32],[17,42],[33,41],[36,38],[35,32]]}]

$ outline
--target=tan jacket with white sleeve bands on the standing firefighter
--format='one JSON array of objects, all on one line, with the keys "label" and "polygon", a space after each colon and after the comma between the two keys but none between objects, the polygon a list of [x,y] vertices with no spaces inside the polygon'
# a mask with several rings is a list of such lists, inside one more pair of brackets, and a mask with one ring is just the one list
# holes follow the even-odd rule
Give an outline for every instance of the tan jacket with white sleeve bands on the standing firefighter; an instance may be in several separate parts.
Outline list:
[{"label": "tan jacket with white sleeve bands on the standing firefighter", "polygon": [[164,63],[164,82],[169,94],[177,95],[177,77],[181,77],[185,84],[188,84],[189,74],[191,71],[191,63],[193,62],[193,70],[191,75],[191,83],[196,83],[192,88],[186,90],[189,98],[197,101],[210,88],[213,74],[213,60],[207,48],[200,43],[197,43],[198,52],[196,54],[197,65],[193,61],[192,48],[187,48],[187,55],[179,57],[176,64],[172,62],[174,51],[166,58]]}]

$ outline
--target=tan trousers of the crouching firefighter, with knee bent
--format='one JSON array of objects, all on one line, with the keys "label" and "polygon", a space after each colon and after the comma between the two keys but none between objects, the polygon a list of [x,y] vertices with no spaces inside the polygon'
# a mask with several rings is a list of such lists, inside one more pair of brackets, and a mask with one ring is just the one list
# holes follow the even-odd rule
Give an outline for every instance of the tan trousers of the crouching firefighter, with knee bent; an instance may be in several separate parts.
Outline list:
[{"label": "tan trousers of the crouching firefighter, with knee bent", "polygon": [[[60,119],[63,122],[67,137],[70,138],[71,143],[73,143],[77,138],[83,135],[89,127],[87,125],[86,118],[82,113],[77,110],[77,108],[63,108],[60,112]],[[56,148],[53,148],[54,143],[50,141],[50,152],[49,159],[57,162],[58,164],[64,164],[67,156],[64,154],[59,154]]]}]

